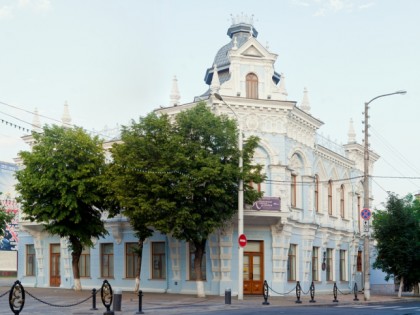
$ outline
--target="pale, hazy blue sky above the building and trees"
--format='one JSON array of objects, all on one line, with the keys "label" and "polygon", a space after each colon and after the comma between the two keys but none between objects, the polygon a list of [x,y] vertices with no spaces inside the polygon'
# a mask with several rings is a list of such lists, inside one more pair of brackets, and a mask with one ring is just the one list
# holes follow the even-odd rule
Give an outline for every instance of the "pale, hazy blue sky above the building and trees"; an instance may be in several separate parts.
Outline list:
[{"label": "pale, hazy blue sky above the building and trees", "polygon": [[[207,90],[206,69],[230,38],[231,16],[253,15],[258,40],[278,55],[288,100],[308,89],[319,133],[347,142],[350,119],[363,139],[370,104],[372,193],[420,191],[420,22],[417,0],[0,0],[0,161],[28,150],[33,112],[110,134]],[[19,128],[21,127],[21,128]]]}]

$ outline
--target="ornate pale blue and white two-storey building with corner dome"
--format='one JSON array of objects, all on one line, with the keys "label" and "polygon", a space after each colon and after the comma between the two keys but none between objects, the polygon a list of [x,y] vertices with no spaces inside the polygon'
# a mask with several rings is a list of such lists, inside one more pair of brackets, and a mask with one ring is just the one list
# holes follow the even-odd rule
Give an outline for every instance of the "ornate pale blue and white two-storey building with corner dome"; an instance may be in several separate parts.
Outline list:
[{"label": "ornate pale blue and white two-storey building with corner dome", "polygon": [[[257,34],[251,19],[235,18],[229,42],[206,71],[208,91],[180,104],[175,78],[170,106],[157,112],[176,115],[204,100],[216,113],[238,118],[245,138],[261,139],[255,162],[264,165],[267,180],[257,188],[264,191],[266,202],[244,211],[244,294],[261,294],[264,280],[277,293],[290,291],[296,281],[305,291],[312,281],[317,291],[332,290],[334,282],[340,290],[352,289],[355,281],[361,288],[364,148],[356,143],[351,122],[344,146],[318,134],[323,123],[311,115],[307,90],[301,102],[288,100],[284,75],[274,68],[277,55],[258,42]],[[378,156],[372,152],[370,157],[372,174]],[[38,225],[21,226],[22,283],[72,287],[67,241],[46,235]],[[83,254],[82,285],[98,287],[107,278],[132,289],[135,262],[130,248],[136,239],[123,217],[107,220],[107,227],[110,235]],[[143,291],[195,292],[188,244],[156,233],[143,253]],[[206,294],[223,294],[226,288],[238,293],[238,253],[234,218],[230,227],[208,240]]]}]

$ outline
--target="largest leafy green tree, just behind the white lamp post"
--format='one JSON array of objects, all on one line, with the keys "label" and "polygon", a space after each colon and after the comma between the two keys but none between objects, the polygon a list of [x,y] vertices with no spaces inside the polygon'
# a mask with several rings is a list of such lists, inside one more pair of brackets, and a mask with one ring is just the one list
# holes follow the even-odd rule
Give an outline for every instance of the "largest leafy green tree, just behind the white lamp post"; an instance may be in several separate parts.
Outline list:
[{"label": "largest leafy green tree, just behind the white lamp post", "polygon": [[193,244],[198,282],[208,236],[237,211],[239,178],[246,183],[247,203],[261,197],[247,184],[264,179],[261,166],[251,163],[258,139],[247,139],[241,173],[237,132],[235,121],[200,103],[173,122],[154,113],[133,121],[112,151],[114,174],[120,176],[112,181],[124,214]]}]

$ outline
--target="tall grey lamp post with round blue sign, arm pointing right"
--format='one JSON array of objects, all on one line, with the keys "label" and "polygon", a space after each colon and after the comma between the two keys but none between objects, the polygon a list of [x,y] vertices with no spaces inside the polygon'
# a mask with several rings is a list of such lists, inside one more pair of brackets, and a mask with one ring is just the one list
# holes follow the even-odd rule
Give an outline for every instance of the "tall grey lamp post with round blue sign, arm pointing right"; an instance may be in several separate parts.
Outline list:
[{"label": "tall grey lamp post with round blue sign, arm pointing right", "polygon": [[[393,93],[383,94],[372,98],[369,102],[365,103],[365,146],[364,146],[364,175],[363,175],[363,190],[364,190],[364,198],[363,198],[363,208],[369,209],[370,207],[370,192],[369,192],[369,104],[372,103],[374,100],[385,97],[391,96],[395,94],[405,94],[406,91],[396,91]],[[359,209],[360,211],[360,209]],[[360,215],[360,213],[359,213]],[[364,300],[370,300],[370,254],[369,254],[369,221],[366,220],[364,224]]]}]

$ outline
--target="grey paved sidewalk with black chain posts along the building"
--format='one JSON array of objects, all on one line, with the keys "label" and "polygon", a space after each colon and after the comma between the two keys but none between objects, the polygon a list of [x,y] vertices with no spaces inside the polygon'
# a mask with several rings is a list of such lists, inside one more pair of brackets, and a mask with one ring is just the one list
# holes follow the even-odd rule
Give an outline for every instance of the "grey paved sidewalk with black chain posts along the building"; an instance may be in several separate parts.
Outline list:
[{"label": "grey paved sidewalk with black chain posts along the building", "polygon": [[[9,291],[11,287],[0,286],[0,296]],[[98,310],[91,310],[92,308],[92,291],[83,290],[75,292],[69,289],[60,288],[25,288],[25,305],[21,314],[49,314],[49,315],[64,315],[64,314],[104,314],[106,308],[102,304],[100,290],[96,295],[96,307]],[[32,297],[34,296],[34,297]],[[12,314],[8,302],[9,295],[0,298],[0,314]],[[89,298],[90,297],[90,298]],[[263,296],[244,296],[242,301],[239,301],[236,296],[231,298],[231,304],[225,304],[224,296],[207,296],[206,298],[198,298],[193,295],[184,294],[160,294],[160,293],[143,293],[142,308],[144,314],[154,315],[176,315],[176,314],[197,314],[204,311],[218,311],[218,310],[233,310],[233,309],[249,309],[261,308],[263,310],[267,307],[283,306],[325,306],[325,305],[343,305],[343,304],[383,304],[390,302],[402,303],[405,301],[420,300],[415,297],[397,298],[396,296],[372,295],[369,302],[363,300],[363,294],[358,294],[359,301],[353,301],[353,294],[339,294],[337,296],[338,302],[333,302],[334,296],[331,294],[316,294],[316,303],[310,303],[309,295],[301,296],[301,304],[296,303],[295,295],[268,297],[269,305],[263,305]],[[39,300],[44,301],[41,302]],[[78,304],[80,301],[85,302]],[[115,302],[115,301],[114,301]],[[58,306],[47,305],[48,303]],[[73,305],[71,307],[62,307],[65,305]],[[113,307],[111,306],[111,311]],[[115,311],[116,315],[134,314],[139,311],[139,298],[137,293],[122,292],[121,311]]]}]

